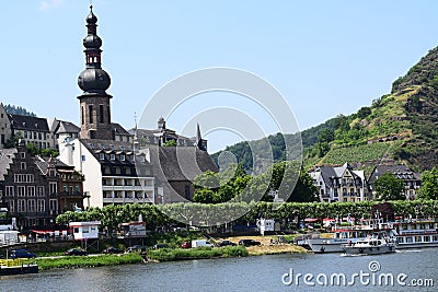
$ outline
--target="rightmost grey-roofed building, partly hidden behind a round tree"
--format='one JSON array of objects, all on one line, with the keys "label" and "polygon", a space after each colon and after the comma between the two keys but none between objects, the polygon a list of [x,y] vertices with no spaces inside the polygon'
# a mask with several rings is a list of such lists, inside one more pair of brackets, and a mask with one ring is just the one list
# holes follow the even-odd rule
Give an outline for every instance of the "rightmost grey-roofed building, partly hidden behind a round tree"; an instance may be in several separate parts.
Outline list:
[{"label": "rightmost grey-roofed building, partly hidden behind a round tree", "polygon": [[368,178],[370,190],[374,197],[377,197],[374,183],[385,173],[391,173],[396,178],[403,180],[403,195],[406,197],[406,200],[414,200],[416,198],[418,190],[422,187],[422,175],[413,172],[410,167],[402,164],[380,164],[374,166],[370,177]]}]

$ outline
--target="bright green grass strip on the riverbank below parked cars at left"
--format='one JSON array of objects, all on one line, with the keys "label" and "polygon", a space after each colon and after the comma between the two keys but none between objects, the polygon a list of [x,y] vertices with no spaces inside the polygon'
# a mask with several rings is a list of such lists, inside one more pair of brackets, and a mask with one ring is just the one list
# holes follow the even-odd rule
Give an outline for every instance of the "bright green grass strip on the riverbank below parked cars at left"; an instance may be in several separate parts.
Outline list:
[{"label": "bright green grass strip on the riverbank below parked cars at left", "polygon": [[36,258],[39,270],[102,267],[142,262],[138,254]]}]

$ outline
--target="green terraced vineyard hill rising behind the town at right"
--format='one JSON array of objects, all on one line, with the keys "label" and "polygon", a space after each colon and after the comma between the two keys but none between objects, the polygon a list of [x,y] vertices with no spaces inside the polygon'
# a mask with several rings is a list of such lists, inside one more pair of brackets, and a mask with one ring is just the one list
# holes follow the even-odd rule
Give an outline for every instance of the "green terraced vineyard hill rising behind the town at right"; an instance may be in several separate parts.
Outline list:
[{"label": "green terraced vineyard hill rising behind the town at right", "polygon": [[[354,96],[351,96],[354,98]],[[338,115],[301,132],[304,165],[343,164],[364,167],[401,162],[416,171],[438,164],[438,47],[392,84],[391,93],[373,100],[357,113]],[[295,139],[286,135],[285,139]],[[280,133],[268,138],[276,161],[285,157]],[[256,144],[257,141],[251,141]],[[226,148],[252,170],[247,142]],[[216,159],[220,152],[212,154]]]}]

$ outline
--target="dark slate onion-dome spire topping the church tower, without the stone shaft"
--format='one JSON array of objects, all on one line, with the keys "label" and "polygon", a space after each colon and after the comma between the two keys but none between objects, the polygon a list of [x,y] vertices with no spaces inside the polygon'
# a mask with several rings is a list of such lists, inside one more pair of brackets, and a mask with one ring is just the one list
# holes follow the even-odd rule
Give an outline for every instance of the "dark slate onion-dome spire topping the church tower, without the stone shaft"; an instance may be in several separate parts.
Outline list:
[{"label": "dark slate onion-dome spire topping the church tower, without the stone shaft", "polygon": [[97,36],[97,17],[93,13],[93,5],[90,5],[90,13],[85,19],[88,34],[83,38],[85,49],[87,69],[79,74],[78,85],[83,94],[106,94],[110,87],[111,78],[101,67],[102,39]]}]

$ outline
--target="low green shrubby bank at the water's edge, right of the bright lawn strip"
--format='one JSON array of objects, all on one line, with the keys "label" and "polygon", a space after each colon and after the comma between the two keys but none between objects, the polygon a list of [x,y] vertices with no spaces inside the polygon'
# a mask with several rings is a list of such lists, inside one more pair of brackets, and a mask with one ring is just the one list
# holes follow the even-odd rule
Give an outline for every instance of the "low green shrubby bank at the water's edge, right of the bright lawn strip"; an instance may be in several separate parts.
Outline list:
[{"label": "low green shrubby bank at the water's edge, right of the bright lawn strip", "polygon": [[249,252],[243,246],[227,247],[197,247],[197,248],[162,248],[148,252],[148,258],[158,261],[173,261],[184,259],[245,257]]}]

